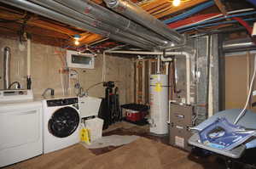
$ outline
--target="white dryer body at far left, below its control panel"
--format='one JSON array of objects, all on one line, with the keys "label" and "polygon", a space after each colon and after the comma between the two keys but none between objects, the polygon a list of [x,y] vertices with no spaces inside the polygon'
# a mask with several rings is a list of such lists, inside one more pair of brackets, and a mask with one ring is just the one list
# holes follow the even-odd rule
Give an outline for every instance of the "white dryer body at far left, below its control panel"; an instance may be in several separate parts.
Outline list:
[{"label": "white dryer body at far left, below its control panel", "polygon": [[0,103],[0,168],[43,153],[42,103]]}]

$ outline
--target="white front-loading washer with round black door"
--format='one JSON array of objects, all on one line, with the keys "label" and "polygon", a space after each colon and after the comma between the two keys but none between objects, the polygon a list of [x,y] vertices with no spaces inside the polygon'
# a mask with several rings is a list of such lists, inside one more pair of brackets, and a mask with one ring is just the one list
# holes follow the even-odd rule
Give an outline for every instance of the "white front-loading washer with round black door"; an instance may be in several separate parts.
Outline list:
[{"label": "white front-loading washer with round black door", "polygon": [[44,99],[44,154],[79,143],[79,99]]}]

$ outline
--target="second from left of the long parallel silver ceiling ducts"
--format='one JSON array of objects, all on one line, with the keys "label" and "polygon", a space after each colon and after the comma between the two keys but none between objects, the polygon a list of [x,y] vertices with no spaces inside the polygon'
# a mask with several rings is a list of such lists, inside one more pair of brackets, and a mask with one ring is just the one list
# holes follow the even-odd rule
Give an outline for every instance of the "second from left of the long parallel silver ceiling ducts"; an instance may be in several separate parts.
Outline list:
[{"label": "second from left of the long parallel silver ceiling ducts", "polygon": [[148,42],[147,40],[143,39],[142,37],[137,37],[127,31],[119,30],[118,28],[113,27],[108,24],[105,24],[102,21],[95,20],[94,18],[91,18],[87,15],[84,15],[84,14],[81,14],[81,13],[75,11],[73,8],[68,8],[67,6],[62,5],[61,3],[56,3],[55,1],[52,1],[52,0],[44,0],[44,1],[31,0],[31,1],[34,3],[38,3],[39,5],[42,5],[46,8],[50,8],[52,10],[58,11],[61,14],[65,14],[68,17],[71,17],[75,20],[84,22],[84,24],[96,26],[98,29],[108,31],[112,34],[115,34],[116,36],[131,38],[134,41],[148,45],[148,48],[154,48],[154,46],[156,46],[156,44],[154,42]]}]

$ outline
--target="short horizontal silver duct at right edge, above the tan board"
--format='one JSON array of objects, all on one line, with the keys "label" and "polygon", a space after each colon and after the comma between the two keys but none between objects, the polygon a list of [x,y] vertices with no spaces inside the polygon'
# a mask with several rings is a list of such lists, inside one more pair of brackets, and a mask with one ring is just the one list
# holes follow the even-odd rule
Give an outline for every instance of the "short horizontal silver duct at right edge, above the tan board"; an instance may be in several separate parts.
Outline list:
[{"label": "short horizontal silver duct at right edge, above the tan board", "polygon": [[256,49],[256,45],[251,38],[236,39],[223,42],[222,46],[224,52],[245,51],[249,49]]}]

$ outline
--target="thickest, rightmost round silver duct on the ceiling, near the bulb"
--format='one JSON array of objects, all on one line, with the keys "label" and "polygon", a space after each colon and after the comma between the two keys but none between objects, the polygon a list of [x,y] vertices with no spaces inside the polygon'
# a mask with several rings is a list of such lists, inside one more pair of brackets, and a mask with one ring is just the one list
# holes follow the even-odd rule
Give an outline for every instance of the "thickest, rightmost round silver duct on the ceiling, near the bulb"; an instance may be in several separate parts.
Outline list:
[{"label": "thickest, rightmost round silver duct on the ceiling, near the bulb", "polygon": [[130,20],[144,25],[174,43],[183,44],[184,37],[181,34],[168,28],[167,25],[154,18],[151,14],[148,14],[137,4],[131,3],[129,0],[104,0],[104,2],[107,3],[108,8],[112,8],[115,12],[124,15]]}]

